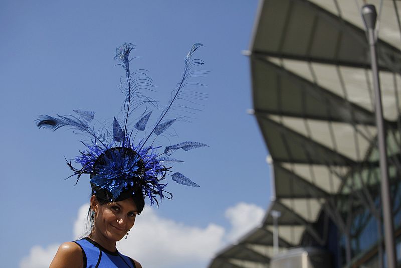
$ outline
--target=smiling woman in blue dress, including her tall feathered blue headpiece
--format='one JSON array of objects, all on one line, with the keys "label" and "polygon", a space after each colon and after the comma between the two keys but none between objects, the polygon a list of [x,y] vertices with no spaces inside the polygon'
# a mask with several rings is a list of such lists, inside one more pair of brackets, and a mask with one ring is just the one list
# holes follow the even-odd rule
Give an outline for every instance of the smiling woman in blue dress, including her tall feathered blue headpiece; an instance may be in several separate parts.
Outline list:
[{"label": "smiling woman in blue dress, including her tall feathered blue headpiece", "polygon": [[[151,111],[145,113],[147,110],[145,107],[145,112],[133,124],[136,130],[129,129],[132,125],[129,117],[134,110],[148,103],[153,104],[154,100],[140,92],[140,89],[151,86],[150,78],[143,71],[130,72],[132,59],[129,58],[129,54],[134,47],[133,44],[121,45],[116,50],[115,59],[120,62],[117,65],[122,66],[125,71],[125,81],[119,86],[125,95],[125,100],[123,119],[118,120],[114,117],[112,130],[103,124],[100,129],[93,129],[90,126],[94,118],[92,111],[74,110],[76,115],[56,117],[43,115],[36,120],[39,128],[44,127],[54,131],[68,126],[74,132],[84,133],[89,137],[89,143],[82,142],[86,149],[80,151],[80,155],[75,158],[75,163],[81,164],[82,168],[75,168],[71,161],[67,161],[67,165],[74,172],[71,176],[77,175],[77,183],[81,175],[90,174],[92,196],[88,216],[92,228],[88,237],[63,243],[50,265],[51,268],[141,267],[139,262],[119,253],[116,242],[124,235],[128,235],[136,215],[143,210],[144,196],[149,198],[151,205],[154,203],[158,205],[156,198],[161,201],[166,193],[167,198],[172,198],[171,193],[165,191],[167,184],[161,183],[166,179],[166,175],[171,175],[172,180],[179,184],[198,187],[196,183],[178,172],[170,174],[171,167],[166,167],[166,163],[182,162],[169,158],[178,149],[188,151],[205,147],[206,144],[182,142],[166,146],[160,153],[157,152],[160,146],[153,147],[153,143],[178,119],[167,118],[170,109],[187,107],[179,102],[185,97],[182,88],[188,85],[187,80],[194,74],[191,69],[203,64],[200,60],[191,60],[192,54],[200,46],[202,44],[199,43],[192,46],[185,58],[184,74],[178,87],[173,90],[171,99],[150,127],[150,131],[146,131],[148,135],[142,139],[138,138],[138,141],[135,141],[138,131],[145,130]],[[148,141],[150,144],[147,144]]]}]

